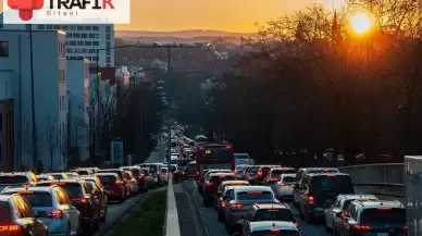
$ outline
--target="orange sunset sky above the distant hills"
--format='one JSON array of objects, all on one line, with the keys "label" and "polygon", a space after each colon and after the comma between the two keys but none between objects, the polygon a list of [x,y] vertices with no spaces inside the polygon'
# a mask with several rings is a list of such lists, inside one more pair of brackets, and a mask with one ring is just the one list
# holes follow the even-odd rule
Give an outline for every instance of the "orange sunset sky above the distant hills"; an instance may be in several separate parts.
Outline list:
[{"label": "orange sunset sky above the distant hills", "polygon": [[[0,0],[0,5],[3,5]],[[114,0],[115,1],[115,0]],[[343,0],[131,0],[131,24],[117,30],[172,32],[216,29],[256,32],[255,23],[264,24],[285,13],[320,2],[333,8]]]}]

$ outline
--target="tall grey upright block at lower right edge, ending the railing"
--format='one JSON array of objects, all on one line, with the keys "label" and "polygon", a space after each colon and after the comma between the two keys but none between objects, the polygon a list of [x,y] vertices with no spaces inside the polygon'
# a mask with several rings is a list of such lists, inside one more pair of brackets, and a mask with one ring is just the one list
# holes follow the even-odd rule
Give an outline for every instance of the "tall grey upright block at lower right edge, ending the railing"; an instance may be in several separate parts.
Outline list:
[{"label": "tall grey upright block at lower right edge, ending the railing", "polygon": [[422,236],[422,156],[405,157],[407,228],[410,236]]}]

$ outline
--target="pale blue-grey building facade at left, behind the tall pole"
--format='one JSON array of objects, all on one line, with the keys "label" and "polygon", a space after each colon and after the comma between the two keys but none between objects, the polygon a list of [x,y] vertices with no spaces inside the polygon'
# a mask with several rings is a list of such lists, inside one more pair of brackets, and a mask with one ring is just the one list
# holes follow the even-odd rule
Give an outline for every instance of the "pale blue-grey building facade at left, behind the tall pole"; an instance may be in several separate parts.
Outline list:
[{"label": "pale blue-grey building facade at left, behind the tall pole", "polygon": [[[30,37],[28,30],[0,30],[0,100],[3,102],[9,100],[9,105],[10,100],[13,100],[13,115],[9,115],[13,116],[13,122],[9,122],[8,126],[13,128],[14,134],[13,154],[9,151],[9,156],[13,157],[15,170],[22,165],[35,166],[32,144],[32,80],[38,160],[44,162],[46,170],[65,167],[67,153],[65,41],[63,32],[34,30]],[[1,113],[5,110],[11,112],[9,107],[2,109]]]}]

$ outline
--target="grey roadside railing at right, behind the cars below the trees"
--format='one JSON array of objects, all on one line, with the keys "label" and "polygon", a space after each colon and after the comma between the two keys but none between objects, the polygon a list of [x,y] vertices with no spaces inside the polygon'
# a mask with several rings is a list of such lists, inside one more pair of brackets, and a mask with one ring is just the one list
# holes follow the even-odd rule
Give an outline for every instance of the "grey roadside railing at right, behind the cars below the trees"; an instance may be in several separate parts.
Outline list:
[{"label": "grey roadside railing at right, behind the cars below the trees", "polygon": [[404,163],[362,164],[339,167],[349,174],[356,185],[404,187]]}]

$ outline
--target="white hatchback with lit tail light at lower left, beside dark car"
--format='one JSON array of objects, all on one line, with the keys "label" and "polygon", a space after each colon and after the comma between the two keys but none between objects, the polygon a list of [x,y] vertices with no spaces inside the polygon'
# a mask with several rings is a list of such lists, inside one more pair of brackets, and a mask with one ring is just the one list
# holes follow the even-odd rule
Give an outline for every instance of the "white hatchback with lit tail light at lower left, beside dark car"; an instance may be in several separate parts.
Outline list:
[{"label": "white hatchback with lit tail light at lower left, beside dark car", "polygon": [[[79,211],[59,186],[8,187],[2,195],[18,194],[25,198],[52,235],[78,235]],[[3,213],[3,212],[2,212]]]}]

